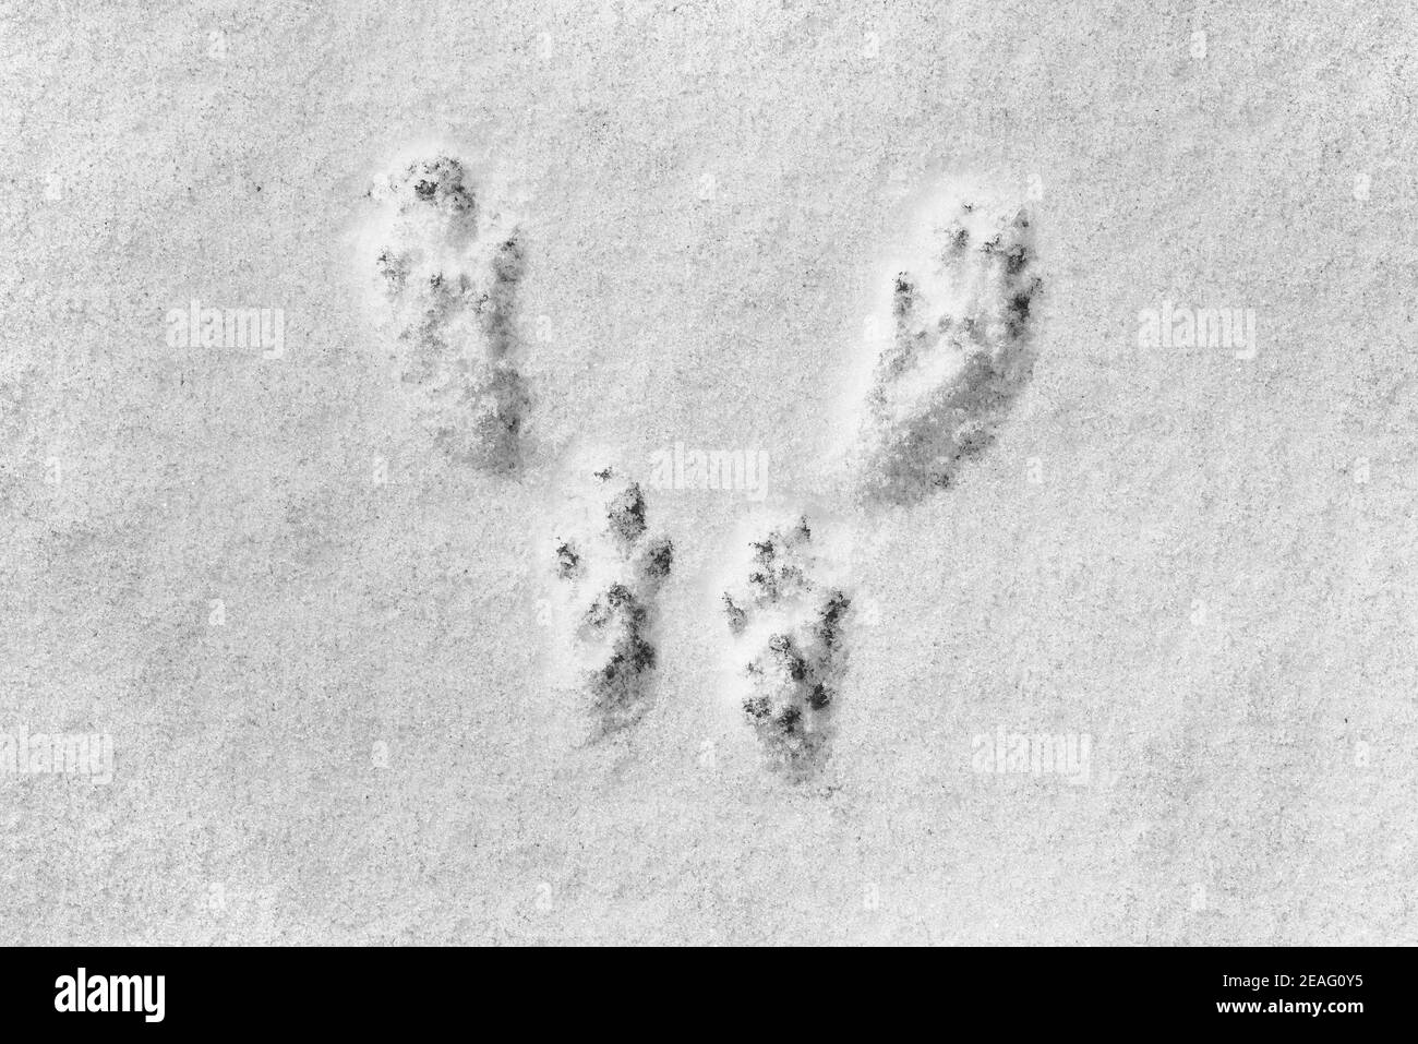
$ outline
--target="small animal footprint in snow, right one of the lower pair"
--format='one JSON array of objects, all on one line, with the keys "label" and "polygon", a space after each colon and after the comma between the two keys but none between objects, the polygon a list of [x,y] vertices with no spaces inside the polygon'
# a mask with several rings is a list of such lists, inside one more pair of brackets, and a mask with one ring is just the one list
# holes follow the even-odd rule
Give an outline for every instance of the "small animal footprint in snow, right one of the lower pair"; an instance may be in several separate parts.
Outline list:
[{"label": "small animal footprint in snow, right one of the lower pair", "polygon": [[807,519],[749,545],[747,580],[723,594],[736,698],[769,760],[794,777],[827,756],[847,650],[851,599],[825,580]]}]

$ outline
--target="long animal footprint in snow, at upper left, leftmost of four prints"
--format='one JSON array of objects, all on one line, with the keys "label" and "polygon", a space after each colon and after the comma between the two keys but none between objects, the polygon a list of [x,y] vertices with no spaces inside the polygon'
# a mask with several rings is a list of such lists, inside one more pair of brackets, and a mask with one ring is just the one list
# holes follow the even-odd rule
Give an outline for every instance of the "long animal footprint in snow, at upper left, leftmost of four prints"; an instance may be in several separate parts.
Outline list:
[{"label": "long animal footprint in snow, at upper left, leftmost of four prints", "polygon": [[370,189],[380,311],[432,437],[455,460],[513,471],[530,397],[515,367],[519,231],[485,214],[464,165],[421,159]]}]

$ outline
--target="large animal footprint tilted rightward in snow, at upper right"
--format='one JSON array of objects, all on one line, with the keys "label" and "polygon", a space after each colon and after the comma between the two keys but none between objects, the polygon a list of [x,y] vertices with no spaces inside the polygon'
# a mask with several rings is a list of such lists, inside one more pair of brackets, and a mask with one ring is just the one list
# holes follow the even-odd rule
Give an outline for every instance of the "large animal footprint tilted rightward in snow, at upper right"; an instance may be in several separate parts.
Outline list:
[{"label": "large animal footprint tilted rightward in snow, at upper right", "polygon": [[1032,372],[1041,289],[1021,204],[971,193],[927,210],[866,396],[862,492],[915,501],[994,441]]}]

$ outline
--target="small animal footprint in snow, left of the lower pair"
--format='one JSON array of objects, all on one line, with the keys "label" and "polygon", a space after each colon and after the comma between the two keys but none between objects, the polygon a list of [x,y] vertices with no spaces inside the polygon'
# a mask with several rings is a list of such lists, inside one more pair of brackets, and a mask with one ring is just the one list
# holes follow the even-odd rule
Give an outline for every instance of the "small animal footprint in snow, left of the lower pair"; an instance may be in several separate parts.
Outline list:
[{"label": "small animal footprint in snow, left of the lower pair", "polygon": [[588,518],[556,542],[562,587],[559,633],[570,679],[591,719],[591,739],[638,722],[651,705],[652,628],[674,545],[651,538],[635,482],[597,471]]}]

